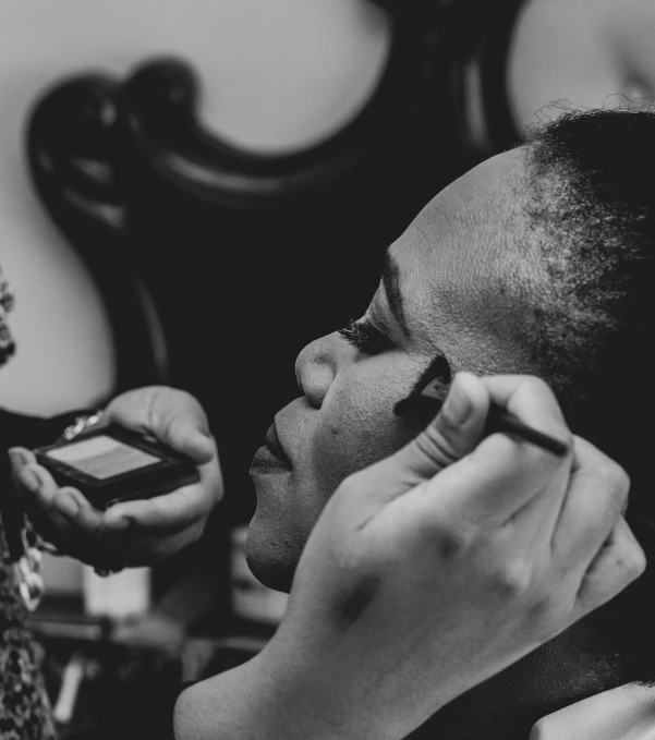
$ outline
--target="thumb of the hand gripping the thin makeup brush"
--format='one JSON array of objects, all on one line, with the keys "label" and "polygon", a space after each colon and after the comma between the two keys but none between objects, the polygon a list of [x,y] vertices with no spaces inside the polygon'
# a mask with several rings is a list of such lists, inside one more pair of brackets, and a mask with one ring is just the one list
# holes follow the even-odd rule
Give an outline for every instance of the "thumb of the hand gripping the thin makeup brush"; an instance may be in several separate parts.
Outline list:
[{"label": "thumb of the hand gripping the thin makeup brush", "polygon": [[387,500],[401,496],[461,460],[485,434],[490,398],[472,373],[454,376],[446,401],[427,427],[401,450],[381,461]]}]

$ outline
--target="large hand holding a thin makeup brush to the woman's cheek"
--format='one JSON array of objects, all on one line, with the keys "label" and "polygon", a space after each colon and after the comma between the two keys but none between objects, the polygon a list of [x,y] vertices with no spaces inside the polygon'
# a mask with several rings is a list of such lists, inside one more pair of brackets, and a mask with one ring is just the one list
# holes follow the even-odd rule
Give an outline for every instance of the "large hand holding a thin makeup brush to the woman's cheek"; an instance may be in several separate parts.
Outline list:
[{"label": "large hand holding a thin makeup brush to the woman's cheek", "polygon": [[[481,441],[492,401],[571,452]],[[628,488],[543,381],[462,374],[417,439],[330,499],[257,670],[307,731],[404,737],[643,572]]]}]

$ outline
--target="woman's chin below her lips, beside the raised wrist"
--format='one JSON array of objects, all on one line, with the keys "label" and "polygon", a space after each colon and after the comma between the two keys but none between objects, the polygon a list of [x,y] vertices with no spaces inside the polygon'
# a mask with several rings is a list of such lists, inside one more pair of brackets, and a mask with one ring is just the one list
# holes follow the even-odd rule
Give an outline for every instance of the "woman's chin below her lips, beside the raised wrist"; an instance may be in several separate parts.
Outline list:
[{"label": "woman's chin below her lips, beside the raised wrist", "polygon": [[288,537],[276,535],[255,512],[248,526],[245,559],[253,575],[269,589],[289,593],[302,548],[293,547]]}]

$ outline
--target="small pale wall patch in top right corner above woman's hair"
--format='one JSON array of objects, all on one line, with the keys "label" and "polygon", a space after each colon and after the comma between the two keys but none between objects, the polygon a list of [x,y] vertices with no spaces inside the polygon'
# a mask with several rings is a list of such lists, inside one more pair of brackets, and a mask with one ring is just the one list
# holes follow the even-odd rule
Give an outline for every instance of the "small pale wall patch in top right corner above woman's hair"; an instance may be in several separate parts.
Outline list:
[{"label": "small pale wall patch in top right corner above woman's hair", "polygon": [[508,63],[519,130],[556,118],[558,109],[542,110],[550,101],[574,108],[652,102],[653,39],[653,0],[526,0]]}]

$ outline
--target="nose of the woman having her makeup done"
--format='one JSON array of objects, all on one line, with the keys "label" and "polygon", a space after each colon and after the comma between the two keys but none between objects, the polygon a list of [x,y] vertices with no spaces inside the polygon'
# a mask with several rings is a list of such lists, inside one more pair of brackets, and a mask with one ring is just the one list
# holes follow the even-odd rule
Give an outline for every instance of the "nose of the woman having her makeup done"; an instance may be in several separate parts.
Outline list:
[{"label": "nose of the woman having her makeup done", "polygon": [[302,393],[315,409],[320,409],[341,363],[347,344],[333,333],[316,339],[305,347],[295,361],[295,379]]}]

